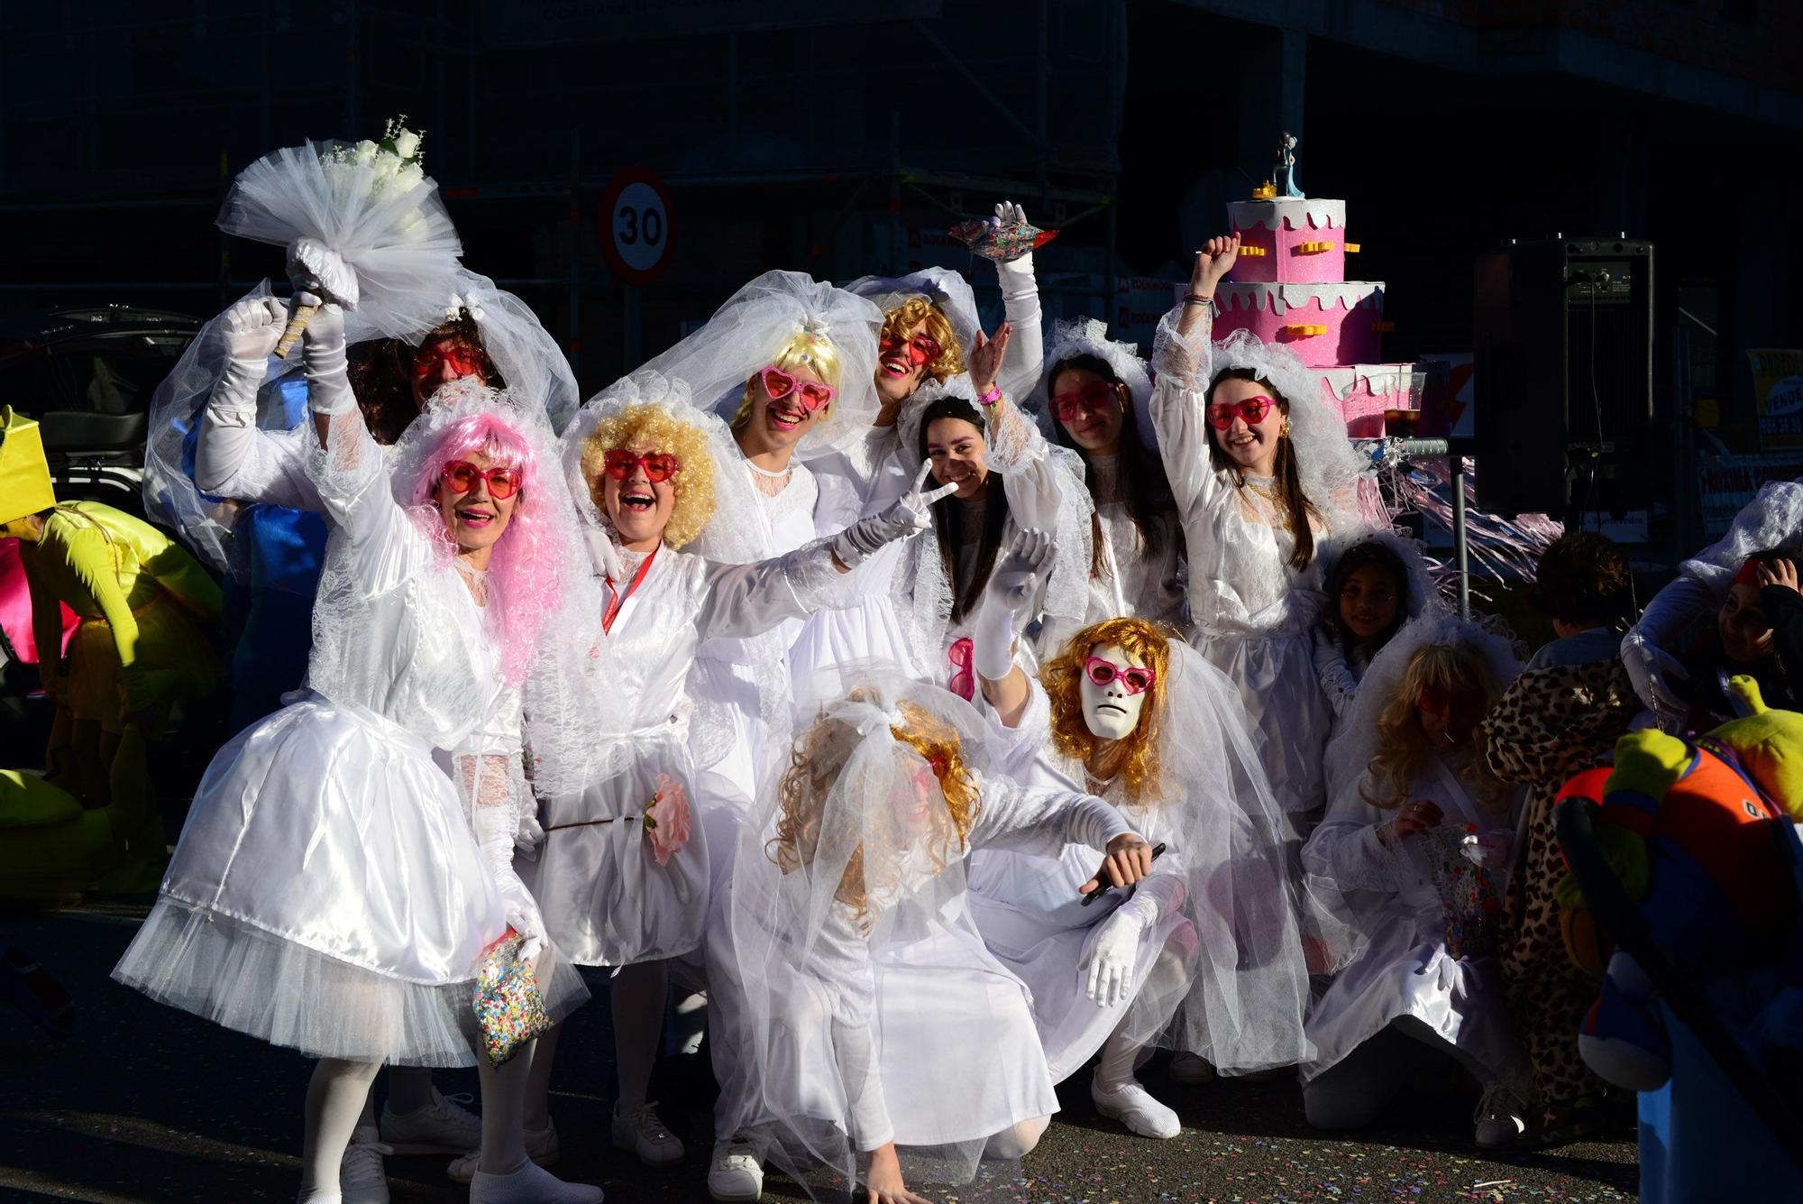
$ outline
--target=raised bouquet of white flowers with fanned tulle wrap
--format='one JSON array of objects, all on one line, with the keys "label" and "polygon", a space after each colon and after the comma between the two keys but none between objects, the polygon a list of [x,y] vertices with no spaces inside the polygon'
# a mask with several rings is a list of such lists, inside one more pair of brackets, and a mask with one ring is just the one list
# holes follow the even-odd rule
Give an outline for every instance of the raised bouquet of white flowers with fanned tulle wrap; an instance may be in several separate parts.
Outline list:
[{"label": "raised bouquet of white flowers with fanned tulle wrap", "polygon": [[[238,173],[218,227],[288,249],[288,272],[346,310],[350,337],[418,337],[451,292],[463,247],[420,168],[420,135],[397,117],[380,142],[307,142]],[[317,287],[314,287],[317,285]],[[287,355],[316,306],[290,308]]]}]

